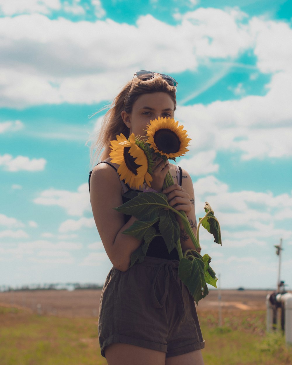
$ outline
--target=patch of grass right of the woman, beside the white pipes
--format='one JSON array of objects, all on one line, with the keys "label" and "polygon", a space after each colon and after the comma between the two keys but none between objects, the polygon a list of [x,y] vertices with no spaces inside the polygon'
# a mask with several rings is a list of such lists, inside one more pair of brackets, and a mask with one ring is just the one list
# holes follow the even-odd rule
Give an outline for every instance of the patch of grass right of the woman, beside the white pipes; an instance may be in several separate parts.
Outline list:
[{"label": "patch of grass right of the woman, beside the white pipes", "polygon": [[281,332],[266,333],[265,316],[265,311],[226,312],[219,327],[216,312],[201,312],[205,365],[291,365],[285,337]]}]

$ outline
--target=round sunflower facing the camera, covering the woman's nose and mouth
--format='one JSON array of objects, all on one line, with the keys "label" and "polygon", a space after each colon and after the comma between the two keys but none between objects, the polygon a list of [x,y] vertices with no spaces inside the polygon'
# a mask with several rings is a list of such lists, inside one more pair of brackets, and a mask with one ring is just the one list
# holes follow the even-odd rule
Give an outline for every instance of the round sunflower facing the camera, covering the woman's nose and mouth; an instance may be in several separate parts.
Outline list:
[{"label": "round sunflower facing the camera, covering the woman's nose and mouth", "polygon": [[178,126],[178,122],[170,118],[160,118],[150,120],[147,126],[147,143],[156,153],[160,153],[166,158],[174,159],[183,156],[188,149],[186,148],[191,141],[187,138],[187,131],[184,126]]}]

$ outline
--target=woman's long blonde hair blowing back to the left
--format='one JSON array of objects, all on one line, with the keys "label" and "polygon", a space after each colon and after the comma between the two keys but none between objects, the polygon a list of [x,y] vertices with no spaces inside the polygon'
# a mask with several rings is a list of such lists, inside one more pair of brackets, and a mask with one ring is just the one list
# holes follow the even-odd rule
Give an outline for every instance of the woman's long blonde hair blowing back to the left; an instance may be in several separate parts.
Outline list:
[{"label": "woman's long blonde hair blowing back to the left", "polygon": [[167,81],[159,76],[147,81],[142,81],[139,80],[137,77],[134,77],[132,85],[130,81],[124,86],[122,91],[112,101],[109,110],[104,115],[101,127],[97,131],[95,138],[91,143],[92,166],[95,164],[96,160],[99,159],[100,161],[103,161],[109,157],[110,142],[113,139],[116,139],[116,136],[118,134],[123,133],[126,138],[129,137],[129,128],[123,122],[121,116],[124,108],[127,113],[131,113],[133,104],[139,96],[155,92],[168,93],[173,100],[174,110],[176,110],[175,87],[170,86]]}]

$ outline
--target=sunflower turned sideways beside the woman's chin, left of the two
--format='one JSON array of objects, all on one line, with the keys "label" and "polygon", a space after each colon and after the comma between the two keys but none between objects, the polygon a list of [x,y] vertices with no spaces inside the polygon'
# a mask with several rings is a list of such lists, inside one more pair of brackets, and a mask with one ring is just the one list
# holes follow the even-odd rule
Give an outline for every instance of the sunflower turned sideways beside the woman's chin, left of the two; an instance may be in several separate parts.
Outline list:
[{"label": "sunflower turned sideways beside the woman's chin, left of the two", "polygon": [[135,135],[132,133],[127,139],[123,134],[116,136],[116,141],[111,141],[111,162],[119,166],[120,180],[124,180],[130,187],[138,189],[144,181],[150,186],[152,177],[148,172],[147,154],[136,144]]}]

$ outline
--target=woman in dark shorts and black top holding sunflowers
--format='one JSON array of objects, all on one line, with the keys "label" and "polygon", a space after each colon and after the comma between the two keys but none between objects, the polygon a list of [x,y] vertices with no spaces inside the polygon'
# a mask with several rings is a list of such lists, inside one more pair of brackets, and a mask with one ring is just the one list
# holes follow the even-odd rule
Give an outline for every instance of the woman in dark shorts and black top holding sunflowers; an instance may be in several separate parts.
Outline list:
[{"label": "woman in dark shorts and black top holding sunflowers", "polygon": [[[111,163],[110,141],[123,133],[145,137],[150,120],[173,118],[177,82],[170,76],[138,71],[116,96],[104,118],[96,143],[104,148],[101,161],[89,176],[92,212],[105,251],[113,268],[105,281],[100,303],[99,341],[101,354],[109,365],[202,365],[201,335],[196,308],[188,289],[178,277],[176,249],[168,253],[161,237],[150,243],[144,262],[131,268],[131,254],[141,241],[123,231],[136,220],[113,208],[127,199],[130,189],[120,181]],[[174,185],[163,190],[170,171]],[[182,178],[183,177],[183,178]],[[167,161],[158,159],[152,174],[151,189],[168,197],[170,206],[183,210],[196,233],[194,192],[191,177]],[[142,186],[141,191],[147,187]],[[182,250],[193,248],[181,227]]]}]

